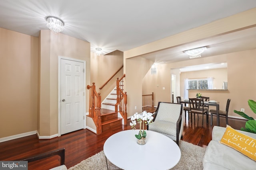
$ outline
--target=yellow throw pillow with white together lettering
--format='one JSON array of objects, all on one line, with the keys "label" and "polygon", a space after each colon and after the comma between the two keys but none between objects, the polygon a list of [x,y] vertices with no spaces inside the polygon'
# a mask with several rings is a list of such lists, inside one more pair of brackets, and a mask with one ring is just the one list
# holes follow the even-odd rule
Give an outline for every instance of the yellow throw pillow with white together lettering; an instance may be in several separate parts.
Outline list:
[{"label": "yellow throw pillow with white together lettering", "polygon": [[236,131],[229,125],[227,125],[220,143],[227,145],[256,161],[256,139]]}]

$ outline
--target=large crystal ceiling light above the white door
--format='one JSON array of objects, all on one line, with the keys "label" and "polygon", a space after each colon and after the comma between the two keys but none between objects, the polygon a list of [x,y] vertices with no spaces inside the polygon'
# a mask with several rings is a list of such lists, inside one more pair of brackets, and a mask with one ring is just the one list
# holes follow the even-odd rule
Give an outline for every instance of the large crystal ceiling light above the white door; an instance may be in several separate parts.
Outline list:
[{"label": "large crystal ceiling light above the white door", "polygon": [[46,16],[45,20],[47,21],[46,26],[54,33],[63,31],[63,26],[65,23],[60,18],[55,16]]}]

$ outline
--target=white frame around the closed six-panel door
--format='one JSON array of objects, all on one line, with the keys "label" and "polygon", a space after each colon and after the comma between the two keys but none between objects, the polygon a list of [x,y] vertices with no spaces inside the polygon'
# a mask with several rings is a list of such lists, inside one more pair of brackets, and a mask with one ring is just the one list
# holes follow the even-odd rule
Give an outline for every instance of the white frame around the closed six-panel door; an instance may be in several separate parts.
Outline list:
[{"label": "white frame around the closed six-panel door", "polygon": [[65,60],[71,60],[71,61],[77,61],[77,62],[82,62],[84,64],[84,102],[83,102],[83,111],[84,111],[84,129],[86,129],[86,91],[85,91],[85,84],[86,84],[86,61],[84,60],[79,60],[79,59],[73,59],[69,57],[62,57],[58,56],[58,136],[61,136],[61,119],[60,119],[60,103],[61,103],[61,93],[60,93],[60,72],[61,72],[61,59]]}]

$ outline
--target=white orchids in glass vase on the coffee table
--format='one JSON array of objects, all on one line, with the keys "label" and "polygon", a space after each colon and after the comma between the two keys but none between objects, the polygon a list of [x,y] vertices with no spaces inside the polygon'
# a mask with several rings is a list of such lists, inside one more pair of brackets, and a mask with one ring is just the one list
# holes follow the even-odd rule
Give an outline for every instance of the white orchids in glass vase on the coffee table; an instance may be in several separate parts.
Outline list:
[{"label": "white orchids in glass vase on the coffee table", "polygon": [[[144,130],[144,125],[149,125],[150,123],[152,123],[153,121],[153,116],[152,113],[147,113],[146,111],[143,111],[142,113],[135,113],[132,117],[131,117],[131,123],[130,125],[132,126],[132,130],[136,129],[135,125],[136,123],[136,119],[137,122],[140,123],[140,131],[138,135],[135,135],[135,137],[137,138],[137,143],[139,145],[145,145],[146,144],[146,136],[147,133]],[[143,124],[143,126],[142,126]]]}]

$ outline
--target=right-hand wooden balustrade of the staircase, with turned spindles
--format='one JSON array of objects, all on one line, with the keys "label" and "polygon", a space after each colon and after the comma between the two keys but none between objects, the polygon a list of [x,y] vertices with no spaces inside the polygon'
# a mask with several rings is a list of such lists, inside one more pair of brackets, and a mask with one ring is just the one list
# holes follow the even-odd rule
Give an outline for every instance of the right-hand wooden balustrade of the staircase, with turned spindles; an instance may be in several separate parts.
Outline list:
[{"label": "right-hand wooden balustrade of the staircase, with turned spindles", "polygon": [[115,111],[118,111],[120,115],[122,115],[124,119],[124,125],[127,125],[127,94],[124,91],[124,84],[123,84],[123,78],[125,77],[125,74],[120,78],[117,78],[116,80],[116,104],[115,104]]}]

